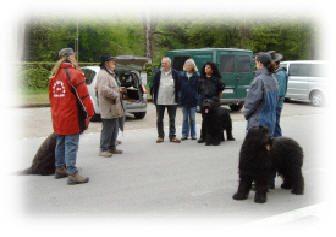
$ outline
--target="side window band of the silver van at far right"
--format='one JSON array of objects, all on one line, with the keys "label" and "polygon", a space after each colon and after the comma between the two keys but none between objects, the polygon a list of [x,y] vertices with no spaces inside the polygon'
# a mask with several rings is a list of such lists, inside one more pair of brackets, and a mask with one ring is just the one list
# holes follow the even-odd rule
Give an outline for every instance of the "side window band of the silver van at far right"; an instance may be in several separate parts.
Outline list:
[{"label": "side window band of the silver van at far right", "polygon": [[291,64],[289,75],[297,77],[324,77],[324,66],[323,64]]}]

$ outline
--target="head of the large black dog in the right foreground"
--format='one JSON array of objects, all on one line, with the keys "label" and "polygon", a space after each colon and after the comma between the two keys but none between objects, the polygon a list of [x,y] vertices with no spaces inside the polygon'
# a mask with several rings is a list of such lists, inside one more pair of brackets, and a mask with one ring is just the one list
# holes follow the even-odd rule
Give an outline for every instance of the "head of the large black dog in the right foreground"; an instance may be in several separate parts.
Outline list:
[{"label": "head of the large black dog in the right foreground", "polygon": [[271,150],[272,136],[268,127],[255,126],[248,130],[246,141],[255,146],[258,150]]}]

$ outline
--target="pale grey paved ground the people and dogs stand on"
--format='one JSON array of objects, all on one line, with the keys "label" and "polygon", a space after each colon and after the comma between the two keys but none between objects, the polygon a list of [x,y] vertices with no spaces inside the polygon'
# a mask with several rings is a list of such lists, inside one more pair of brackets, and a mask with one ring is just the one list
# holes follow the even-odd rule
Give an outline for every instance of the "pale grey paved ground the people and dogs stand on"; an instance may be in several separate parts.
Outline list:
[{"label": "pale grey paved ground the people and dogs stand on", "polygon": [[[48,108],[20,112],[27,129],[14,144],[23,148],[15,166],[18,170],[30,165],[43,136],[50,132],[50,128],[45,129],[50,126]],[[286,103],[284,107],[284,133],[304,148],[303,196],[280,190],[277,178],[277,189],[268,194],[266,204],[255,204],[252,193],[247,201],[232,200],[246,126],[241,113],[232,114],[235,142],[219,147],[205,147],[190,140],[155,144],[155,116],[150,107],[144,120],[128,120],[127,130],[120,137],[122,155],[111,159],[97,156],[99,123],[91,124],[80,137],[78,166],[83,175],[90,177],[88,184],[67,186],[65,179],[55,180],[52,176],[11,176],[20,193],[18,211],[24,216],[219,217],[226,223],[250,223],[300,210],[322,200],[319,186],[325,170],[319,159],[318,130],[323,113],[323,108],[305,104]],[[177,124],[181,124],[180,119],[179,112]],[[197,121],[199,127],[199,115]],[[180,133],[181,128],[177,130]],[[315,217],[308,219],[316,221]]]}]

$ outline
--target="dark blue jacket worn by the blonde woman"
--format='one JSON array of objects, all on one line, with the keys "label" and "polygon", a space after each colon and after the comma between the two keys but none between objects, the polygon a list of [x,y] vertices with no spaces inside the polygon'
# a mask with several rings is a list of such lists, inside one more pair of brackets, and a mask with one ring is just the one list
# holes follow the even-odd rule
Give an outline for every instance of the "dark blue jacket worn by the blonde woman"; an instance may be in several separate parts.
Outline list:
[{"label": "dark blue jacket worn by the blonde woman", "polygon": [[198,72],[193,72],[192,77],[188,79],[187,72],[180,76],[181,101],[183,107],[196,107],[199,100],[198,95]]}]

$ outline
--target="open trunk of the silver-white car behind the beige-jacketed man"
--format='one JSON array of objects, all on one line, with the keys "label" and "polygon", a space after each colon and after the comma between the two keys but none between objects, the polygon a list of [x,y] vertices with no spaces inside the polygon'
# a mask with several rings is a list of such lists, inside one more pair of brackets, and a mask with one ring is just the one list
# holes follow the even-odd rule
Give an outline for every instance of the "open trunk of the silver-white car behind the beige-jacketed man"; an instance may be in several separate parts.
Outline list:
[{"label": "open trunk of the silver-white car behind the beige-jacketed man", "polygon": [[116,70],[117,78],[120,81],[120,87],[126,88],[122,98],[128,102],[143,101],[143,88],[140,78],[136,71]]}]

